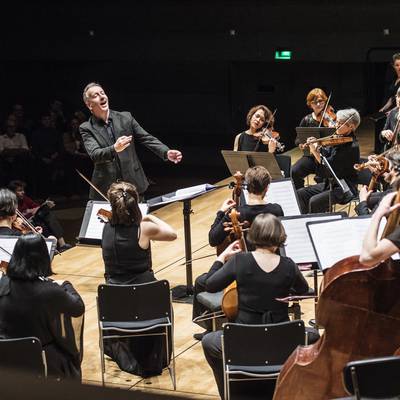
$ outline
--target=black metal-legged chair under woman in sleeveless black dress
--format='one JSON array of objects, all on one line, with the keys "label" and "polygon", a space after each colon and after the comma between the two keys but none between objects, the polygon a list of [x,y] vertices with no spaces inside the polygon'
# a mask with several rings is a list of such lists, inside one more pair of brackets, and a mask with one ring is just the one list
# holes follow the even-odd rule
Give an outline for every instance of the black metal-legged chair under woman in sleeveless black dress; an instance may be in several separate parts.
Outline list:
[{"label": "black metal-legged chair under woman in sleeveless black dress", "polygon": [[[166,368],[176,390],[173,313],[168,281],[140,285],[99,285],[97,296],[103,386],[105,339],[164,336]],[[163,329],[160,331],[159,328]]]}]

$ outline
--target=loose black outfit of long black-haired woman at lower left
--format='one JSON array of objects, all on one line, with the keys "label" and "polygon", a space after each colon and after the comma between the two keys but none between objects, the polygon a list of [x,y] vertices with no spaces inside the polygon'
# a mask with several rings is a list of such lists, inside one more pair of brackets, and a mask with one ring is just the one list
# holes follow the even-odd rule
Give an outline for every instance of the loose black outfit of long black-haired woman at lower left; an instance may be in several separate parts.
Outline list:
[{"label": "loose black outfit of long black-haired woman at lower left", "polygon": [[49,376],[81,379],[85,305],[69,282],[0,280],[0,336],[35,336],[46,353]]}]

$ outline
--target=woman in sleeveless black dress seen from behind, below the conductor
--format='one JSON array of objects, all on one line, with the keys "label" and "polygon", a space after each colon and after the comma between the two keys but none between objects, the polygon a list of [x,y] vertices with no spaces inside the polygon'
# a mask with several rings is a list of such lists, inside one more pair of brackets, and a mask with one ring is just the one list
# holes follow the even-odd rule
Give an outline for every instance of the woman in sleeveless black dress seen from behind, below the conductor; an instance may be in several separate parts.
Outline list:
[{"label": "woman in sleeveless black dress seen from behind, below the conductor", "polygon": [[[130,183],[113,183],[107,197],[112,218],[104,226],[101,242],[106,282],[131,285],[154,281],[150,240],[175,240],[175,230],[154,215],[142,217],[139,194]],[[155,336],[108,339],[104,351],[123,371],[147,377],[162,372],[163,342]]]}]

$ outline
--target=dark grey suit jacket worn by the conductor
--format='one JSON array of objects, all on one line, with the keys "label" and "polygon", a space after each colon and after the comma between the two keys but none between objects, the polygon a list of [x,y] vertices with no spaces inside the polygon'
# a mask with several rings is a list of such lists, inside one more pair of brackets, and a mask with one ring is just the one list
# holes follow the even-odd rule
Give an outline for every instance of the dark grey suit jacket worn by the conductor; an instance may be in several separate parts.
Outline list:
[{"label": "dark grey suit jacket worn by the conductor", "polygon": [[[94,162],[92,182],[102,193],[106,194],[113,182],[122,179],[134,184],[137,191],[142,194],[149,186],[149,182],[136,154],[136,143],[146,146],[164,160],[167,159],[169,148],[146,132],[132,117],[131,113],[110,110],[110,118],[112,119],[115,140],[120,136],[130,135],[133,136],[133,140],[130,146],[117,153],[102,120],[92,115],[87,122],[81,124],[79,131],[83,143]],[[89,197],[101,199],[92,188]]]}]

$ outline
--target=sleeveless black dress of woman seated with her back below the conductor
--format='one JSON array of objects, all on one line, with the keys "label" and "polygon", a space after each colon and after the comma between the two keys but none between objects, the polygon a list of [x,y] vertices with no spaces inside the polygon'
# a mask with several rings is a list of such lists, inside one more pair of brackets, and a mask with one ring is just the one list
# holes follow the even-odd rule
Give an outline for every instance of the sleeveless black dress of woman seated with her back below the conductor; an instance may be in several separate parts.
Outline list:
[{"label": "sleeveless black dress of woman seated with her back below the conductor", "polygon": [[[102,251],[108,284],[133,285],[156,280],[151,270],[150,247],[142,249],[139,237],[140,226],[136,224],[107,223],[104,226]],[[107,339],[104,342],[104,352],[125,372],[148,377],[160,375],[167,366],[165,339],[161,336]]]}]

